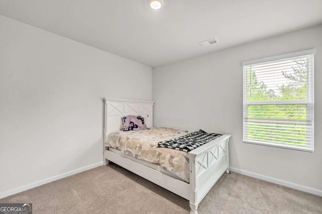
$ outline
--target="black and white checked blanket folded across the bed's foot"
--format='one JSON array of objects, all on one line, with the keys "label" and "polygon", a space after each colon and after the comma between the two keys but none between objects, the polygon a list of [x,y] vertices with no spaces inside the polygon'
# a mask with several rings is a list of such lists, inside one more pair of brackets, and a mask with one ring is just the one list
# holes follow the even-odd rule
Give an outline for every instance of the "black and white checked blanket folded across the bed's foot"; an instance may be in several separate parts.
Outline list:
[{"label": "black and white checked blanket folded across the bed's foot", "polygon": [[157,143],[157,147],[165,147],[171,149],[182,150],[190,152],[191,150],[208,143],[217,137],[222,136],[222,134],[207,133],[203,130],[199,130],[182,137],[178,137],[171,140],[165,140]]}]

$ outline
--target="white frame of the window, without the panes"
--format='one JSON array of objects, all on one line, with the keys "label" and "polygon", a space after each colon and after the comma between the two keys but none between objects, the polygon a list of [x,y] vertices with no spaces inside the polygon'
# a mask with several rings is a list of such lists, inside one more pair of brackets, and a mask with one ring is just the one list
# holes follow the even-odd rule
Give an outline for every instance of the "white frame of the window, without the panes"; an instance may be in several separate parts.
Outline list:
[{"label": "white frame of the window, without the panes", "polygon": [[[299,52],[293,52],[273,57],[267,57],[267,58],[261,58],[251,61],[243,62],[243,142],[244,143],[251,143],[251,144],[259,144],[259,145],[266,145],[266,146],[272,146],[272,147],[279,147],[279,148],[286,148],[286,149],[294,149],[294,150],[301,150],[301,151],[314,151],[314,54],[316,54],[316,49],[309,49],[305,51],[299,51]],[[252,65],[258,65],[258,64],[268,64],[273,62],[278,62],[282,60],[287,60],[290,58],[300,58],[304,56],[310,56],[311,59],[307,61],[306,64],[306,75],[307,75],[307,85],[306,90],[307,92],[311,90],[311,93],[307,93],[307,99],[306,100],[272,100],[272,101],[248,101],[248,67]],[[299,146],[292,146],[292,145],[284,145],[284,144],[278,144],[273,142],[264,142],[264,141],[256,141],[256,140],[250,140],[248,139],[248,133],[249,130],[246,128],[245,123],[249,121],[248,117],[248,107],[249,105],[291,105],[291,104],[305,104],[306,105],[306,118],[308,115],[311,116],[311,120],[307,120],[305,124],[311,124],[312,126],[312,133],[306,134],[310,135],[312,141],[312,145],[307,145],[308,147],[299,147]],[[287,121],[287,119],[284,119],[284,121]],[[277,136],[277,135],[276,135]],[[305,140],[306,143],[308,143],[308,140]]]}]

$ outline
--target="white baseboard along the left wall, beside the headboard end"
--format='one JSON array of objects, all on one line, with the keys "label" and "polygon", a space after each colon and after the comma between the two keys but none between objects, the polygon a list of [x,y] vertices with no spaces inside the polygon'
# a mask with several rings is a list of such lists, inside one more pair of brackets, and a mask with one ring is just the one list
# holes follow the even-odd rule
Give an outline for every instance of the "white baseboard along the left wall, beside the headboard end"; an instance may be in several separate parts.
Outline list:
[{"label": "white baseboard along the left wall, beside the headboard end", "polygon": [[62,174],[58,174],[58,175],[53,176],[53,177],[49,177],[49,178],[46,178],[46,179],[43,179],[43,180],[38,180],[36,182],[30,183],[30,184],[27,184],[27,185],[24,185],[24,186],[20,186],[20,187],[14,188],[14,189],[10,189],[10,190],[5,191],[5,192],[0,192],[0,198],[4,198],[4,197],[7,197],[9,195],[13,195],[13,194],[16,194],[16,193],[19,193],[19,192],[22,192],[22,191],[25,191],[25,190],[28,190],[28,189],[31,189],[31,188],[46,184],[46,183],[49,183],[49,182],[52,182],[52,181],[55,181],[55,180],[59,180],[59,179],[64,178],[64,177],[68,177],[70,175],[77,174],[79,172],[83,172],[83,171],[86,171],[86,170],[89,170],[89,169],[93,169],[93,168],[96,168],[96,167],[102,166],[102,165],[103,165],[103,161],[97,162],[97,163],[94,163],[94,164],[91,164],[91,165],[88,165],[88,166],[84,166],[84,167],[81,167],[81,168],[78,168],[78,169],[74,169],[74,170],[62,173]]}]

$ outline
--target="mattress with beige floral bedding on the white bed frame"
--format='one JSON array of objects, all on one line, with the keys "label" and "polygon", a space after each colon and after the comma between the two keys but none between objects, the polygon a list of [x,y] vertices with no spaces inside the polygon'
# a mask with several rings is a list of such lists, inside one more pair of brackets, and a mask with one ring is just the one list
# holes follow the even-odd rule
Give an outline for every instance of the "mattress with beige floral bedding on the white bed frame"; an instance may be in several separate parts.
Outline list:
[{"label": "mattress with beige floral bedding on the white bed frame", "polygon": [[107,146],[139,160],[159,164],[163,169],[189,182],[188,153],[157,147],[158,142],[189,133],[180,129],[154,127],[139,131],[116,131],[108,136]]}]

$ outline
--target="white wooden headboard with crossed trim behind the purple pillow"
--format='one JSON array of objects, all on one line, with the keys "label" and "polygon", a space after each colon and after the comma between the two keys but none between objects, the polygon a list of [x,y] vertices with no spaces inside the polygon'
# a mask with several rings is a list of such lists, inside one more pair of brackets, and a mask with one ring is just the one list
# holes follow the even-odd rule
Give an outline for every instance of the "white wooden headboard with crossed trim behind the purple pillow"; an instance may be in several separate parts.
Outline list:
[{"label": "white wooden headboard with crossed trim behind the purple pillow", "polygon": [[104,145],[107,136],[113,131],[120,130],[122,117],[127,115],[144,117],[149,128],[153,125],[153,103],[151,100],[128,100],[104,98]]}]

